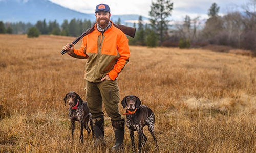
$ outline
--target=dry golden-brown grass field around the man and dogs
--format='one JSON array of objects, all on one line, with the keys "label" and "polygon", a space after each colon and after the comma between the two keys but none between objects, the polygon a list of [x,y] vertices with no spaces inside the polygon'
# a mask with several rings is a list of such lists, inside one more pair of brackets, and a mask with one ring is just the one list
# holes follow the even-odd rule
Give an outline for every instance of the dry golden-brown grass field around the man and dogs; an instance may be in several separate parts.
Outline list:
[{"label": "dry golden-brown grass field around the man and dogs", "polygon": [[[79,143],[77,123],[71,139],[63,97],[72,90],[84,99],[86,60],[60,51],[74,39],[0,35],[0,152],[111,152],[108,116],[104,150],[93,148],[86,131]],[[121,99],[137,95],[156,115],[159,151],[145,128],[143,152],[256,152],[256,58],[203,49],[130,49],[118,78]],[[124,147],[132,152],[127,127]]]}]

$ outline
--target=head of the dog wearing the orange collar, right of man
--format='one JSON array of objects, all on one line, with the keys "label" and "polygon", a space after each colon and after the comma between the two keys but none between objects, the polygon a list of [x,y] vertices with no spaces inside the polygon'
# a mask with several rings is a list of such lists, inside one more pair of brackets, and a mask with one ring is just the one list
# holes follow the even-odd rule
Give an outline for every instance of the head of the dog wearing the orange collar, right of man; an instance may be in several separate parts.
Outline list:
[{"label": "head of the dog wearing the orange collar, right of man", "polygon": [[141,101],[135,95],[128,95],[123,98],[121,104],[123,108],[127,107],[129,111],[134,111],[136,108],[139,109]]}]

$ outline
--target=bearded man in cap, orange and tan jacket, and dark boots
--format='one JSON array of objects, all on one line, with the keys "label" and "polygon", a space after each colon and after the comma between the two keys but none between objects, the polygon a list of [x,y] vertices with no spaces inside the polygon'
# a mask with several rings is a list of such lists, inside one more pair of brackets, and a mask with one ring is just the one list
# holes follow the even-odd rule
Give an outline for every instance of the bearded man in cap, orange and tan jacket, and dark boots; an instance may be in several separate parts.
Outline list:
[{"label": "bearded man in cap, orange and tan jacket, and dark boots", "polygon": [[115,146],[112,148],[119,150],[123,149],[124,118],[121,118],[118,108],[120,95],[117,77],[129,61],[130,50],[126,35],[110,21],[108,5],[97,5],[95,16],[95,29],[83,37],[81,48],[74,49],[73,44],[70,48],[70,44],[67,44],[63,49],[72,57],[87,59],[86,99],[93,118],[94,145],[105,144],[103,101],[115,133]]}]

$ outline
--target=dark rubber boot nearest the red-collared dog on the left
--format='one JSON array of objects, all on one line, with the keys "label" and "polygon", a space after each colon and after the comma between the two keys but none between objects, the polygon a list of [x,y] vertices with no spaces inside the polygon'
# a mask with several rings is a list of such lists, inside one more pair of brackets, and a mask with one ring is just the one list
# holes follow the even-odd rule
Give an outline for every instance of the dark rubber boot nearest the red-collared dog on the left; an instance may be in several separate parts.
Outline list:
[{"label": "dark rubber boot nearest the red-collared dog on the left", "polygon": [[104,116],[99,116],[92,118],[93,120],[93,130],[95,134],[94,147],[105,146],[104,140]]}]

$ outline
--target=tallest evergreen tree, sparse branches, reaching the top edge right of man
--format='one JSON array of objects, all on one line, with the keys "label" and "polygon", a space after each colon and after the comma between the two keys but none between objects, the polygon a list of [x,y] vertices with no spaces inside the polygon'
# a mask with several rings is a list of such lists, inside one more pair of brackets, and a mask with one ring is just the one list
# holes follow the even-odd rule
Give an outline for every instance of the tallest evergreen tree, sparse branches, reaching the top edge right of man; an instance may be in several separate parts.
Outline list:
[{"label": "tallest evergreen tree, sparse branches, reaching the top edge right of man", "polygon": [[171,0],[152,1],[150,11],[150,22],[152,29],[159,35],[160,43],[162,43],[168,36],[168,22],[167,19],[173,10],[173,2]]}]

